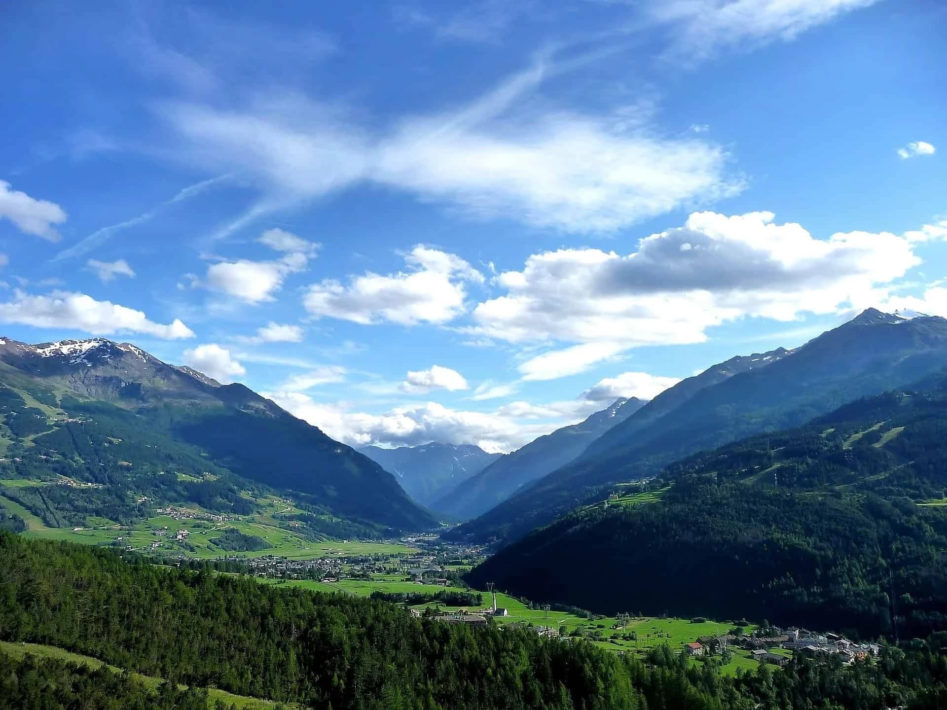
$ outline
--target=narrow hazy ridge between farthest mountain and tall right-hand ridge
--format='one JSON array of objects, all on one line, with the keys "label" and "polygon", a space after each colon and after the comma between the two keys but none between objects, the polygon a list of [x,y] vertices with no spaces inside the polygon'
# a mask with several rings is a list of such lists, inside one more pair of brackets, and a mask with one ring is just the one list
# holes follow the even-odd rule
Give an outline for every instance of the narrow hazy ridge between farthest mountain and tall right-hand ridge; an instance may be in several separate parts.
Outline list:
[{"label": "narrow hazy ridge between farthest mountain and tall right-hand ridge", "polygon": [[483,514],[545,474],[574,459],[600,435],[632,416],[645,402],[616,399],[611,406],[579,424],[540,436],[508,456],[472,476],[448,492],[431,507],[458,519],[470,520]]}]

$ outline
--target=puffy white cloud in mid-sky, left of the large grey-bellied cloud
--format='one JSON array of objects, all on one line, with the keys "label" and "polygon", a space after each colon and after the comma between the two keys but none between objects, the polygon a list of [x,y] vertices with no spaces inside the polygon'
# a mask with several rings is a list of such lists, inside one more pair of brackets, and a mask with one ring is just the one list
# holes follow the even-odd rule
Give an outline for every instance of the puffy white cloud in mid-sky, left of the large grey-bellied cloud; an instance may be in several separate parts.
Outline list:
[{"label": "puffy white cloud in mid-sky, left of the large grey-bellied cloud", "polygon": [[419,245],[404,260],[406,272],[368,272],[350,279],[348,286],[335,279],[313,284],[303,299],[306,310],[363,325],[446,323],[465,310],[464,283],[484,280],[462,258],[437,249]]}]

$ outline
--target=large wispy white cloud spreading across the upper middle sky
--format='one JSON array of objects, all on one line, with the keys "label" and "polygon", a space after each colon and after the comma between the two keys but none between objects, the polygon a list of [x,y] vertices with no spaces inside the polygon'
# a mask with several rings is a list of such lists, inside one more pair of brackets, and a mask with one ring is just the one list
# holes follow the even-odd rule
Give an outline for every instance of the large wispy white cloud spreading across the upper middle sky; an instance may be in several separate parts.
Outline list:
[{"label": "large wispy white cloud spreading across the upper middle sky", "polygon": [[477,218],[595,232],[742,189],[726,151],[697,136],[667,137],[620,116],[513,111],[558,69],[539,62],[456,110],[387,130],[285,96],[243,111],[174,104],[162,115],[189,160],[253,176],[289,201],[373,183]]}]

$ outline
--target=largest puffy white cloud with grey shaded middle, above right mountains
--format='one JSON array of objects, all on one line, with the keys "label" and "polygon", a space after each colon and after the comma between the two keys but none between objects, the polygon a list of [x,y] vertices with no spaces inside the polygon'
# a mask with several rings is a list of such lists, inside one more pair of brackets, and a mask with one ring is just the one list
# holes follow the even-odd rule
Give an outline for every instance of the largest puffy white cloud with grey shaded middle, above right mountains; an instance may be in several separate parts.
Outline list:
[{"label": "largest puffy white cloud with grey shaded middle, above right mountains", "polygon": [[[579,344],[521,364],[530,379],[564,374],[623,348],[702,342],[706,328],[747,316],[780,321],[876,299],[920,263],[911,241],[849,232],[815,239],[770,212],[696,212],[627,256],[561,249],[496,277],[507,293],[473,312],[478,336]],[[590,346],[590,344],[596,344]]]}]

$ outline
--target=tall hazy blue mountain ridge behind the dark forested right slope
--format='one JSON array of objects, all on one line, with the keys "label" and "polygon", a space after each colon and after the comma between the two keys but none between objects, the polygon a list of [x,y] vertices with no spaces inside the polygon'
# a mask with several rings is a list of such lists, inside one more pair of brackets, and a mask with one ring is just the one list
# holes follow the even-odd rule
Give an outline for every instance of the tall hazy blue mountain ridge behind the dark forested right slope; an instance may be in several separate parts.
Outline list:
[{"label": "tall hazy blue mountain ridge behind the dark forested right slope", "polygon": [[869,309],[805,346],[727,361],[680,382],[573,462],[452,535],[516,540],[618,481],[652,476],[676,459],[746,435],[798,426],[945,365],[947,320]]}]

